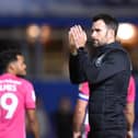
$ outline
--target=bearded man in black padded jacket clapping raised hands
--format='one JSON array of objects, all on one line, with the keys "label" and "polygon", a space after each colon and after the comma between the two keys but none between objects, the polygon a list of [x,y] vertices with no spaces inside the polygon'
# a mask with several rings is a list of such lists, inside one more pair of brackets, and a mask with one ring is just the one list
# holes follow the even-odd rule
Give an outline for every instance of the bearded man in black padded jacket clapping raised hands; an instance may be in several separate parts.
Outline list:
[{"label": "bearded man in black padded jacket clapping raised hands", "polygon": [[[69,31],[69,71],[72,83],[89,83],[89,138],[125,138],[127,88],[131,64],[116,42],[118,22],[110,14],[97,14],[91,27],[93,57],[85,50],[87,34],[80,25]],[[73,50],[72,50],[73,49]],[[93,127],[94,126],[94,127]]]}]

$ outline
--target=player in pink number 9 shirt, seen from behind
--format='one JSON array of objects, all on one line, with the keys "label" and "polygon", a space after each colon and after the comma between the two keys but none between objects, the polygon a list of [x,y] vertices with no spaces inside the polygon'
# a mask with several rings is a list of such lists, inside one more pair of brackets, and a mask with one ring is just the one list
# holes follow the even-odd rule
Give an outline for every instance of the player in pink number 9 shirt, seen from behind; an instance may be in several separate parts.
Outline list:
[{"label": "player in pink number 9 shirt, seen from behind", "polygon": [[34,138],[39,138],[35,92],[26,74],[25,59],[19,49],[0,53],[0,138],[25,138],[25,114]]}]

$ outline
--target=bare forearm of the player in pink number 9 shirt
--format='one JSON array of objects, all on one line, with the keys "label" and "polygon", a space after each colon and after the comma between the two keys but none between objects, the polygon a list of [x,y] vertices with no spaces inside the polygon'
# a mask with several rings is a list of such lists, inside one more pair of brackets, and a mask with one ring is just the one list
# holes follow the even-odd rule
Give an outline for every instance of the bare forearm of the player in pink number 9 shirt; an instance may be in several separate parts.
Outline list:
[{"label": "bare forearm of the player in pink number 9 shirt", "polygon": [[26,111],[28,126],[31,128],[31,131],[34,135],[34,138],[39,138],[39,127],[38,127],[38,120],[36,117],[36,111],[34,108]]}]

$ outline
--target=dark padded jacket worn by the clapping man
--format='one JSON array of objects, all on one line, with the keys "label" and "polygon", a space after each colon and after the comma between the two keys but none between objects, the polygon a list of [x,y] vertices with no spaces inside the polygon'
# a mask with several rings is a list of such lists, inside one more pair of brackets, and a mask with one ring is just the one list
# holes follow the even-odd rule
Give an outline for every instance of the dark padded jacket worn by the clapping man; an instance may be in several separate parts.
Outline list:
[{"label": "dark padded jacket worn by the clapping man", "polygon": [[126,130],[124,107],[130,60],[123,47],[118,43],[100,47],[92,59],[79,48],[77,56],[70,56],[69,71],[72,83],[89,82],[91,131],[101,134],[94,137],[108,138],[107,131]]}]

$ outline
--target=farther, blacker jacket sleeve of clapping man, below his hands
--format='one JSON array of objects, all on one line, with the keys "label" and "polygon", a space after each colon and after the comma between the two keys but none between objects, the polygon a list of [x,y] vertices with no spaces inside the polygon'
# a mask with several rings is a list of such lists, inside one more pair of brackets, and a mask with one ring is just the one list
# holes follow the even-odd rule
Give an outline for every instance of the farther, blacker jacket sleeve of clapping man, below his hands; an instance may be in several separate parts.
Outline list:
[{"label": "farther, blacker jacket sleeve of clapping man, below his hands", "polygon": [[87,80],[82,69],[80,68],[78,55],[69,56],[69,77],[70,77],[71,83],[74,83],[74,84],[79,84]]}]

